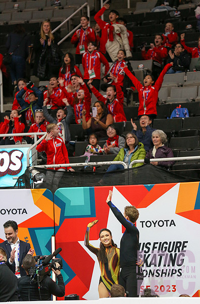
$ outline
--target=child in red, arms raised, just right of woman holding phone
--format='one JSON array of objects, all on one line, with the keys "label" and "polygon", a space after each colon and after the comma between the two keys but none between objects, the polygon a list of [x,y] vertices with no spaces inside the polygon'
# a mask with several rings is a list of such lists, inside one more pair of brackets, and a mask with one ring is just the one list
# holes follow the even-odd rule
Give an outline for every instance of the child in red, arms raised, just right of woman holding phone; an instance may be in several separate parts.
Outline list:
[{"label": "child in red, arms raised, just right of woman holding phone", "polygon": [[[132,73],[131,73],[132,75]],[[110,73],[110,78],[115,82],[115,86],[110,85],[107,90],[107,98],[100,94],[93,86],[92,79],[88,81],[88,86],[92,93],[96,96],[97,100],[103,101],[106,107],[108,108],[109,114],[113,116],[113,119],[116,123],[126,122],[126,116],[123,109],[124,103],[124,93],[120,85],[117,82],[117,78]]]}]

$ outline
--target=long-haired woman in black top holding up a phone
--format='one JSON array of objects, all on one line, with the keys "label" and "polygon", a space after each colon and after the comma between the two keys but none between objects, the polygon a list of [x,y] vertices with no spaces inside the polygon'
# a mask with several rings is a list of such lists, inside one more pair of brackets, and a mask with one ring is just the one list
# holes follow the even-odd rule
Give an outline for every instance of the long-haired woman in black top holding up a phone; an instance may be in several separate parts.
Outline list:
[{"label": "long-haired woman in black top holding up a phone", "polygon": [[[96,111],[95,109],[96,108]],[[107,139],[106,129],[110,124],[113,124],[114,120],[111,114],[108,114],[106,106],[102,101],[96,101],[92,107],[92,117],[86,122],[86,110],[82,110],[82,127],[83,130],[87,130],[88,133],[95,132],[98,136],[98,140]]]}]

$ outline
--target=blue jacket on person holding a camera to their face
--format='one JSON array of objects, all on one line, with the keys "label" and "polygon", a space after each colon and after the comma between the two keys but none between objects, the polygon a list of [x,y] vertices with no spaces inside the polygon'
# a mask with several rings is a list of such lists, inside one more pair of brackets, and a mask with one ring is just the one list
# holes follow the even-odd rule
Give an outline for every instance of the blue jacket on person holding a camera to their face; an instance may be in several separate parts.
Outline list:
[{"label": "blue jacket on person holding a camera to their face", "polygon": [[24,100],[23,95],[26,93],[28,89],[24,87],[19,93],[17,93],[16,98],[19,102],[20,106],[22,107],[20,113],[26,112],[29,108],[31,108],[31,111],[33,113],[33,117],[35,119],[35,110],[36,109],[42,109],[43,105],[43,93],[35,87],[32,87],[31,90],[37,95],[38,99],[34,102],[28,103]]}]

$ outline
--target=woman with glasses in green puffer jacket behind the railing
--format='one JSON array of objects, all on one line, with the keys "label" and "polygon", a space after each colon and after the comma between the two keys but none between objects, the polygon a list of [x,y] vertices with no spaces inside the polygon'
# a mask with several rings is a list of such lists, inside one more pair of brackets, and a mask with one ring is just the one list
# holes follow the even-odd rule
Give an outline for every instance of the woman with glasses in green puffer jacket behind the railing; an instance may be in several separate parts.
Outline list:
[{"label": "woman with glasses in green puffer jacket behind the railing", "polygon": [[[133,133],[126,134],[125,147],[121,148],[118,155],[114,159],[114,162],[122,161],[127,166],[134,160],[143,160],[145,158],[146,151],[143,143],[139,142],[137,136]],[[142,166],[143,163],[136,163],[132,165],[132,168]],[[110,165],[107,172],[111,172],[118,169],[123,169],[123,165]]]}]

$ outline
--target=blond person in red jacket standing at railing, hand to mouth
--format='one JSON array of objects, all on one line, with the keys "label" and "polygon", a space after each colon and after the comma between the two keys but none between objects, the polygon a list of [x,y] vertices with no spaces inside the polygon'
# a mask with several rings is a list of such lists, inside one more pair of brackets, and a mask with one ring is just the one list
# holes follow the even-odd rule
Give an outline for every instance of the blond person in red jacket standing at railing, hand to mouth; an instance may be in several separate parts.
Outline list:
[{"label": "blond person in red jacket standing at railing, hand to mouth", "polygon": [[[68,152],[65,143],[59,137],[59,127],[56,124],[49,124],[46,127],[46,138],[43,139],[36,147],[38,152],[45,151],[47,156],[47,165],[69,164]],[[51,168],[57,171],[65,171],[65,167]],[[67,167],[67,171],[74,171]]]}]

